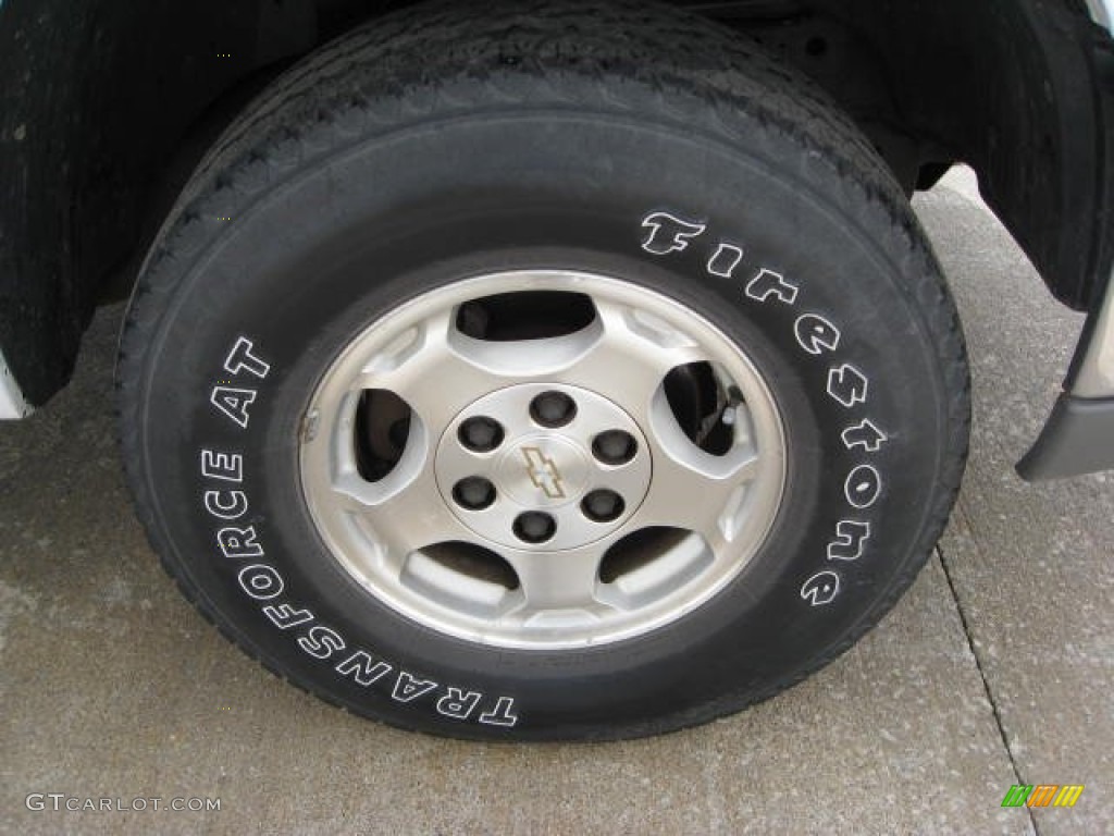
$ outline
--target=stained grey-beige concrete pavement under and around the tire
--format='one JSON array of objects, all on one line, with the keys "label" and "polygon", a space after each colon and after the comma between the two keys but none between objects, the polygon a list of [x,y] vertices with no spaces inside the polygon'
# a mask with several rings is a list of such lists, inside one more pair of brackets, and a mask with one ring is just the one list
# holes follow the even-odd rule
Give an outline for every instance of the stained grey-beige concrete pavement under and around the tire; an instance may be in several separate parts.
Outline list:
[{"label": "stained grey-beige concrete pavement under and around the tire", "polygon": [[[0,832],[1114,833],[1114,475],[1030,486],[1012,467],[1082,319],[1053,304],[973,188],[958,172],[917,201],[975,373],[970,467],[939,550],[820,674],[653,740],[399,732],[226,644],[129,508],[113,426],[120,309],[102,311],[74,385],[0,426]],[[1074,809],[1030,813],[1000,807],[1013,784],[1086,789]],[[53,811],[48,797],[33,810],[32,793],[221,809]]]}]

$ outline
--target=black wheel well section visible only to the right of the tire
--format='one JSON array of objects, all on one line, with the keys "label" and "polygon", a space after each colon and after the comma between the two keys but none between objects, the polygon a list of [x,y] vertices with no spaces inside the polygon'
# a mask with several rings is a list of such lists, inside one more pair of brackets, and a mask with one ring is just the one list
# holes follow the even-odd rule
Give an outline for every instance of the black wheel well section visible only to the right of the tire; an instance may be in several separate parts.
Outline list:
[{"label": "black wheel well section visible only to the right of the tire", "polygon": [[1087,308],[1112,259],[1114,51],[1082,0],[694,6],[825,88],[908,193],[968,163],[1057,299]]}]

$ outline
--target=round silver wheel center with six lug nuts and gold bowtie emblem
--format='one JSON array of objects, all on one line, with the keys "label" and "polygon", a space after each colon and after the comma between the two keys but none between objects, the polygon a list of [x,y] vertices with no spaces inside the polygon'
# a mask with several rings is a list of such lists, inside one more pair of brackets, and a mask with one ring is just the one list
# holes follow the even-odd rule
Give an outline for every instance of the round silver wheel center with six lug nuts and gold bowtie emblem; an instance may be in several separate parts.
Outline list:
[{"label": "round silver wheel center with six lug nuts and gold bowtie emblem", "polygon": [[649,489],[649,448],[609,398],[522,383],[461,411],[437,450],[437,483],[460,522],[500,546],[557,552],[618,531]]}]

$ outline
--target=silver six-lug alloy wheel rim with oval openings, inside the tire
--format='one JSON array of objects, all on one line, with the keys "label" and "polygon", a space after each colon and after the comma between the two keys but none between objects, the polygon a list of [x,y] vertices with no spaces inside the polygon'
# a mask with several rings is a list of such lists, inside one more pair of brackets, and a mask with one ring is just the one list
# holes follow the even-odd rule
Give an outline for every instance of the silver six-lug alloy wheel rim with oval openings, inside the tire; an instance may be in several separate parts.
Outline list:
[{"label": "silver six-lug alloy wheel rim with oval openings, inside the tire", "polygon": [[567,649],[735,579],[776,515],[785,440],[754,366],[691,309],[504,272],[359,334],[313,395],[300,466],[317,532],[375,599],[480,644]]}]

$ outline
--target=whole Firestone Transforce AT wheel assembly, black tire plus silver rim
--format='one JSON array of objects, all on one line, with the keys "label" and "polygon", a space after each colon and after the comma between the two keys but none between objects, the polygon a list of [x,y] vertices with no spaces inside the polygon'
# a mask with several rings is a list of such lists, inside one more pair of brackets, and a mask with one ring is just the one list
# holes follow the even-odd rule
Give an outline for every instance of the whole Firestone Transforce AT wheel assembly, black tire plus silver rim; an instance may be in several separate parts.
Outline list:
[{"label": "whole Firestone Transforce AT wheel assembly, black tire plus silver rim", "polygon": [[912,582],[969,422],[883,163],[644,3],[422,7],[294,68],[164,226],[119,379],[202,613],[465,738],[656,733],[799,681]]}]

